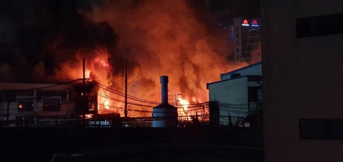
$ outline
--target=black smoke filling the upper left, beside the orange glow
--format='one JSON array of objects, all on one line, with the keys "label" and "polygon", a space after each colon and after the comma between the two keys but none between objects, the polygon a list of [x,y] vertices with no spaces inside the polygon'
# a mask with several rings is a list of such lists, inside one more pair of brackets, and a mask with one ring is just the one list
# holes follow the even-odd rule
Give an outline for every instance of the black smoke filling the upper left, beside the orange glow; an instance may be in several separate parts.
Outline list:
[{"label": "black smoke filling the upper left, beside the orange glow", "polygon": [[115,31],[108,22],[94,22],[84,14],[92,11],[92,5],[68,0],[0,1],[0,81],[42,82],[34,73],[40,65],[47,78],[43,82],[59,82],[52,77],[54,69],[76,60],[77,53],[87,57],[89,51],[104,47],[115,55]]}]

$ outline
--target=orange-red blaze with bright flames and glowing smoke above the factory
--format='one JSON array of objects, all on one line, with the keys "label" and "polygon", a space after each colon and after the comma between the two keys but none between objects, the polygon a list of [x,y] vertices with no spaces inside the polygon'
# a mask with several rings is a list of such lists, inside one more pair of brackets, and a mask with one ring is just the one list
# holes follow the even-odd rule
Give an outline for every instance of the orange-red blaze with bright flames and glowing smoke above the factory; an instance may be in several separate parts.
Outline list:
[{"label": "orange-red blaze with bright flames and glowing smoke above the factory", "polygon": [[[184,0],[106,1],[102,6],[93,7],[91,13],[78,13],[87,16],[82,17],[86,22],[85,26],[98,29],[95,34],[92,33],[93,30],[86,30],[83,34],[88,32],[89,38],[101,38],[102,41],[93,43],[90,47],[61,50],[69,47],[69,41],[65,41],[68,35],[51,36],[56,39],[46,51],[54,51],[56,60],[63,60],[54,68],[54,78],[81,78],[82,58],[85,58],[87,78],[124,92],[124,60],[128,59],[129,95],[160,102],[159,76],[168,75],[168,93],[182,94],[180,103],[183,107],[180,113],[188,115],[191,111],[188,111],[187,105],[208,101],[206,83],[218,80],[219,73],[242,67],[228,61],[231,49],[226,48],[225,36],[213,34]],[[92,23],[95,25],[92,26]],[[113,31],[108,32],[112,29]],[[104,33],[116,33],[118,41],[108,40],[107,38],[112,37],[106,37]],[[87,45],[89,41],[80,42]],[[63,56],[59,53],[64,52],[73,57],[60,58]],[[44,66],[44,63],[39,62],[35,66],[35,74],[44,76]],[[99,113],[116,112],[124,116],[121,109],[124,103],[113,99],[124,100],[123,96],[103,89],[99,89],[97,93],[103,94],[98,96],[98,102],[101,103],[98,106]],[[129,116],[151,116],[153,104],[132,99],[128,101],[150,106],[130,105],[132,111],[129,111]]]}]

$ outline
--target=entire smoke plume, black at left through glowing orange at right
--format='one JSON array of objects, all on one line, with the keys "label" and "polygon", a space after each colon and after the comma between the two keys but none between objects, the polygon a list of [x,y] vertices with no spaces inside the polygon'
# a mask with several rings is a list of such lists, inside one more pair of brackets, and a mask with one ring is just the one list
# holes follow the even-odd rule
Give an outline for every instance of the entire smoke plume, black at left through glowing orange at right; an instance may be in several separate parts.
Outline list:
[{"label": "entire smoke plume, black at left through glowing orange at right", "polygon": [[1,1],[1,81],[80,78],[85,57],[90,78],[124,92],[128,59],[129,95],[159,102],[168,75],[169,95],[196,103],[208,100],[206,83],[239,67],[187,1],[85,2]]}]

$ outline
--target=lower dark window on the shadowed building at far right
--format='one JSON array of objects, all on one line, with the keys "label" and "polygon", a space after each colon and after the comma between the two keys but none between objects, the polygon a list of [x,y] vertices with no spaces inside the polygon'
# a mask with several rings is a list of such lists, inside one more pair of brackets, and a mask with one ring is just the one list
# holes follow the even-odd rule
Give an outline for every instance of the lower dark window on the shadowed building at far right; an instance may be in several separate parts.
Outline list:
[{"label": "lower dark window on the shadowed building at far right", "polygon": [[343,139],[343,119],[300,119],[302,139]]}]

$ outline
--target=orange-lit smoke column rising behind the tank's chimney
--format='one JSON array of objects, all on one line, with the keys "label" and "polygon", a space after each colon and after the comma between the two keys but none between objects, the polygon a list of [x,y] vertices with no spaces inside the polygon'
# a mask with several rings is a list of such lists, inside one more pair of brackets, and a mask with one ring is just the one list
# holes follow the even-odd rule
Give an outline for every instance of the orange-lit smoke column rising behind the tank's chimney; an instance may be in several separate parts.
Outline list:
[{"label": "orange-lit smoke column rising behind the tank's chimney", "polygon": [[159,101],[159,75],[168,75],[169,95],[197,102],[208,99],[206,83],[237,66],[226,59],[225,39],[212,35],[195,13],[183,0],[116,1],[88,16],[108,22],[119,36],[118,53],[138,63],[131,91]]}]

